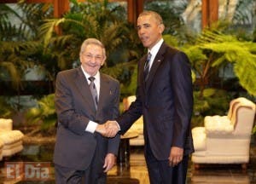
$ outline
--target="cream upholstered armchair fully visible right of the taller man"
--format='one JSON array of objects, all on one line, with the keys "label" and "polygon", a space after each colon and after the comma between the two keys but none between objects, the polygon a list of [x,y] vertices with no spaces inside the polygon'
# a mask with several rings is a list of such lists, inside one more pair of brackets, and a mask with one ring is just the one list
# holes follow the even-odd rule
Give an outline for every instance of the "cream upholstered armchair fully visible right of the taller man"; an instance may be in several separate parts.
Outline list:
[{"label": "cream upholstered armchair fully visible right of the taller man", "polygon": [[255,117],[255,104],[240,97],[230,102],[227,116],[207,116],[204,127],[192,129],[198,164],[241,164],[246,169]]}]

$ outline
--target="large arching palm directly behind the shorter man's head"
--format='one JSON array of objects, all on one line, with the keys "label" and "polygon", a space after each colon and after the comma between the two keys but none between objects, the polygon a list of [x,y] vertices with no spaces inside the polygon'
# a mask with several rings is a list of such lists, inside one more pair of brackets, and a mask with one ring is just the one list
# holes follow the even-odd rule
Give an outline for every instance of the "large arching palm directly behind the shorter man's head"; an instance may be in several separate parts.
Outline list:
[{"label": "large arching palm directly behind the shorter man's head", "polygon": [[[107,68],[139,57],[137,34],[125,18],[125,9],[108,1],[78,3],[73,0],[72,3],[70,12],[62,18],[47,19],[40,27],[44,49],[58,53],[61,69],[73,67],[74,61],[79,62],[80,46],[88,37],[104,43],[108,55]],[[57,34],[56,26],[61,34]],[[117,77],[123,71],[116,67],[111,72],[113,77]]]}]

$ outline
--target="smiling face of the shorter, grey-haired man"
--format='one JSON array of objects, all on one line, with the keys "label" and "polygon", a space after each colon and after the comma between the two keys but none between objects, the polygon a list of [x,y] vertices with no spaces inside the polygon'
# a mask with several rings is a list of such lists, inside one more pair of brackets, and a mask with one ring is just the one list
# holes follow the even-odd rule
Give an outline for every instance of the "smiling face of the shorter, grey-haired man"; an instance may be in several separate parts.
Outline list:
[{"label": "smiling face of the shorter, grey-haired man", "polygon": [[80,54],[81,65],[84,71],[94,76],[101,68],[106,58],[103,55],[103,49],[96,44],[89,44]]}]

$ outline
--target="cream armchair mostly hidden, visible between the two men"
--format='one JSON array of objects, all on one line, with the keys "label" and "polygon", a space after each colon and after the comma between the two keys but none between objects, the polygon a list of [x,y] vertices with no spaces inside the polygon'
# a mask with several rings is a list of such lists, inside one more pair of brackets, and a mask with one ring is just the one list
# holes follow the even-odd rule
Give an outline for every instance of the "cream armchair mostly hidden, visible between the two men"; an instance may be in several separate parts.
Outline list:
[{"label": "cream armchair mostly hidden, visible between the two men", "polygon": [[[135,95],[128,96],[123,100],[124,110],[128,109],[132,101],[136,100]],[[138,118],[137,121],[132,124],[128,132],[136,132],[138,136],[136,138],[130,139],[131,146],[143,146],[144,145],[144,135],[143,135],[143,116]]]}]

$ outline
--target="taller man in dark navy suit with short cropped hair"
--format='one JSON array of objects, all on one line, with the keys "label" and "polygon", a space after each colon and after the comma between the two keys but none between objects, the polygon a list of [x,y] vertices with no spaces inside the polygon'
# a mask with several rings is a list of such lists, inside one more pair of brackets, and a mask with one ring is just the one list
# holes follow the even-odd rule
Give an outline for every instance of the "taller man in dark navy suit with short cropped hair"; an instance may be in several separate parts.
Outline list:
[{"label": "taller man in dark navy suit with short cropped hair", "polygon": [[[137,99],[116,122],[124,134],[143,115],[150,183],[184,184],[189,153],[194,152],[191,70],[188,57],[164,42],[164,29],[160,14],[144,11],[139,15],[137,32],[148,54],[138,62]],[[116,122],[107,123],[107,136],[117,132]]]}]

